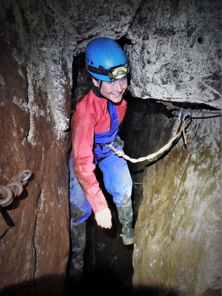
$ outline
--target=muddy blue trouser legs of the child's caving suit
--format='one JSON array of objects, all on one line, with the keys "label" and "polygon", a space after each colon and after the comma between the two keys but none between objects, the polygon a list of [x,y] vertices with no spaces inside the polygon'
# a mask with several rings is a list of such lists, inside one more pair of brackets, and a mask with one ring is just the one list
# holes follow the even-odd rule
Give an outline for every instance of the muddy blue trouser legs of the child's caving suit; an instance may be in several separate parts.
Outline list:
[{"label": "muddy blue trouser legs of the child's caving suit", "polygon": [[[109,156],[100,160],[98,165],[103,172],[105,188],[112,195],[113,202],[118,206],[129,206],[132,203],[132,179],[126,160],[112,151]],[[77,225],[91,215],[92,208],[74,175],[73,153],[69,169],[71,224]]]}]

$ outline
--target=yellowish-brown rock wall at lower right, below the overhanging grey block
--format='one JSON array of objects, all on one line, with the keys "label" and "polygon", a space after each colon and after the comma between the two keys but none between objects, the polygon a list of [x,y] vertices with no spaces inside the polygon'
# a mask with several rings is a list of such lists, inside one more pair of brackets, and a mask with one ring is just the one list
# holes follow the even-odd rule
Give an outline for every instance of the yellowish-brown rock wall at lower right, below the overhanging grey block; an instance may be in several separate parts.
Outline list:
[{"label": "yellowish-brown rock wall at lower right, below the overhanging grey block", "polygon": [[[129,162],[136,192],[133,296],[221,295],[222,122],[204,111],[187,114],[185,137],[150,161]],[[159,151],[178,116],[152,100],[129,100],[125,153],[139,159]]]}]

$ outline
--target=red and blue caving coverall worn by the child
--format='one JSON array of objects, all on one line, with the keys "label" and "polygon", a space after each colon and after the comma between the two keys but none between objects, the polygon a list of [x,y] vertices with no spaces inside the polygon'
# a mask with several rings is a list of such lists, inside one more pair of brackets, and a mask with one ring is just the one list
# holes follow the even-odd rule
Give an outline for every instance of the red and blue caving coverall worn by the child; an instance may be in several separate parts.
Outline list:
[{"label": "red and blue caving coverall worn by the child", "polygon": [[[118,205],[131,202],[132,180],[128,165],[123,157],[115,155],[111,148],[104,146],[104,144],[115,142],[119,125],[126,112],[126,106],[127,103],[124,99],[117,105],[113,104],[102,97],[97,88],[90,90],[76,105],[76,111],[71,120],[73,137],[73,159],[71,157],[70,161],[71,223],[82,222],[88,218],[84,217],[84,212],[88,213],[87,216],[91,213],[84,209],[84,207],[89,207],[86,205],[87,203],[83,206],[81,199],[84,195],[94,213],[108,207],[94,174],[97,162],[104,174],[105,187],[113,195],[113,201]],[[114,143],[114,147],[117,146]],[[118,149],[122,148],[119,146]],[[124,181],[122,180],[123,176]],[[78,192],[74,186],[76,184],[75,177],[80,184]],[[79,194],[80,189],[84,194]],[[72,220],[72,206],[80,208],[83,212],[79,221]]]}]

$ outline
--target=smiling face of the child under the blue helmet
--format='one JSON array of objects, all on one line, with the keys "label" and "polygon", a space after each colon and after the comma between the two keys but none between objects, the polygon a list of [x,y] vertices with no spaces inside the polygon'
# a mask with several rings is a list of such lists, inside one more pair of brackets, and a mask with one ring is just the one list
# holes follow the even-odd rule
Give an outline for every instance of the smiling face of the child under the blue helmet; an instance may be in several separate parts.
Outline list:
[{"label": "smiling face of the child under the blue helmet", "polygon": [[[93,83],[96,87],[99,88],[100,80],[93,78]],[[114,81],[103,81],[100,93],[102,96],[109,99],[111,102],[119,103],[127,87],[127,78],[122,78]]]}]

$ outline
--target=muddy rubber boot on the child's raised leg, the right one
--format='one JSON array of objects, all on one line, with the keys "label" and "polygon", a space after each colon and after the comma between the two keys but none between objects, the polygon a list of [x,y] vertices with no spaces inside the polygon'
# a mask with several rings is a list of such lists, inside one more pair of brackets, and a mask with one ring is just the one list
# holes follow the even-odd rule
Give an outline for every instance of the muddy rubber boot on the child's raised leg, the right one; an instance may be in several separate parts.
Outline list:
[{"label": "muddy rubber boot on the child's raised leg, the right one", "polygon": [[133,222],[133,208],[132,204],[129,206],[117,206],[116,209],[118,212],[118,218],[120,223],[122,224],[122,239],[124,245],[131,245],[135,243],[135,233],[132,228],[132,222]]}]

